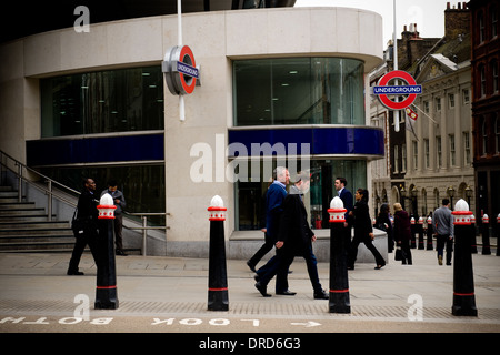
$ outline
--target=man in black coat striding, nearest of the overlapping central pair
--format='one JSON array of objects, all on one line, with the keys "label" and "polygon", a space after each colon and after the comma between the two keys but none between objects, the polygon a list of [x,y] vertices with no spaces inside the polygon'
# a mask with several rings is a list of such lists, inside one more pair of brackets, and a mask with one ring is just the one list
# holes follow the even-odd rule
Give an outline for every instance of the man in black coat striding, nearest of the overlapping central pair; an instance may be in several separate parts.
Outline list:
[{"label": "man in black coat striding, nearest of the overlapping central pair", "polygon": [[312,252],[312,242],[316,241],[316,235],[309,226],[308,213],[302,201],[303,194],[309,191],[309,173],[298,173],[294,185],[290,187],[290,193],[282,203],[278,242],[276,243],[279,263],[277,267],[263,274],[256,284],[261,293],[276,273],[287,271],[294,256],[302,256],[306,260],[314,298],[329,298],[319,282],[318,262]]}]

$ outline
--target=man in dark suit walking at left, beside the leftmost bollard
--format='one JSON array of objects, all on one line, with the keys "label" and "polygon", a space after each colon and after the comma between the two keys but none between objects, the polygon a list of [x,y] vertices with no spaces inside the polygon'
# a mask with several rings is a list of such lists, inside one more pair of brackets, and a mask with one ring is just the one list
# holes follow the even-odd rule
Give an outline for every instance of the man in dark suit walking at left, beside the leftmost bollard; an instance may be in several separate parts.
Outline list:
[{"label": "man in dark suit walking at left, beside the leftmost bollard", "polygon": [[87,244],[89,244],[93,258],[96,261],[98,260],[96,243],[99,234],[99,211],[97,209],[94,192],[96,182],[93,179],[86,179],[83,191],[78,199],[77,220],[79,221],[79,226],[76,227],[73,225],[73,233],[77,241],[74,243],[73,253],[71,254],[68,275],[83,275],[82,272],[78,271],[78,265],[80,264],[81,254]]}]

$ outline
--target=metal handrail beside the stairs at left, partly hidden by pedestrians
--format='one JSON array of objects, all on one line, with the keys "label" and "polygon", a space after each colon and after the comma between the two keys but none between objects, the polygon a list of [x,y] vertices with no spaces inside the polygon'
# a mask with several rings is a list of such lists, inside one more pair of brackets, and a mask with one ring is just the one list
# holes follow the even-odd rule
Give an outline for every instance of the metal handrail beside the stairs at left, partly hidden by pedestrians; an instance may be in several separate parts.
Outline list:
[{"label": "metal handrail beside the stairs at left, partly hidden by pedestrians", "polygon": [[[3,162],[3,156],[7,158],[6,162]],[[10,164],[9,164],[10,162]],[[77,196],[79,196],[81,193],[77,190],[73,190],[71,187],[68,187],[66,185],[63,185],[62,183],[50,179],[49,176],[43,175],[42,173],[29,168],[28,165],[21,163],[20,161],[18,161],[17,159],[12,158],[11,155],[7,154],[6,152],[3,152],[2,150],[0,150],[0,169],[1,166],[4,166],[6,169],[8,169],[9,171],[11,171],[18,179],[18,202],[22,202],[22,182],[24,181],[26,183],[32,185],[33,187],[36,187],[37,190],[43,192],[44,194],[48,195],[48,202],[47,202],[47,212],[48,212],[48,221],[52,220],[52,199],[58,199],[59,201],[62,201],[73,207],[77,206],[77,204],[74,203],[74,201],[71,201],[69,199],[67,199],[66,196],[54,193],[53,191],[53,184],[58,185],[59,187],[62,187],[61,190],[66,190],[68,192],[71,192],[72,194],[76,194]],[[11,168],[12,166],[12,168]],[[16,169],[17,168],[17,169]],[[16,171],[17,170],[17,171]],[[43,181],[47,183],[47,187],[41,186],[40,184],[37,184],[34,181],[28,180],[24,175],[23,175],[23,170],[26,170],[27,172],[33,173],[37,176],[43,179]],[[0,170],[0,178],[1,178],[1,170]],[[131,226],[124,226],[128,230],[140,230],[142,231],[142,251],[141,254],[143,256],[146,256],[146,244],[147,244],[147,237],[148,237],[148,231],[149,230],[169,230],[170,227],[167,225],[162,225],[162,226],[148,226],[148,216],[153,216],[153,215],[163,215],[163,216],[168,216],[170,215],[170,213],[167,212],[140,212],[140,213],[131,213],[131,212],[123,212],[127,215],[136,215],[136,216],[140,216],[142,220],[142,226],[138,226],[138,227],[131,227]]]}]

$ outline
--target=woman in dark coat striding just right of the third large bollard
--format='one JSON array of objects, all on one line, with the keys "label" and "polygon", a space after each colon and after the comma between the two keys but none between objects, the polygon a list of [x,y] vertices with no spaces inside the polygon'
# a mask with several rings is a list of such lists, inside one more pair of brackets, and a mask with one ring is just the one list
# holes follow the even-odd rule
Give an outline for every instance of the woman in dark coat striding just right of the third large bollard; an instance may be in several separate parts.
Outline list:
[{"label": "woman in dark coat striding just right of the third large bollard", "polygon": [[351,247],[348,254],[348,270],[354,270],[359,243],[364,243],[367,248],[373,254],[377,263],[376,268],[382,268],[386,265],[386,261],[372,243],[374,236],[368,207],[368,190],[358,189],[358,191],[356,191],[354,199],[357,201],[354,209],[349,212],[349,215],[354,217],[354,237],[352,239]]}]

